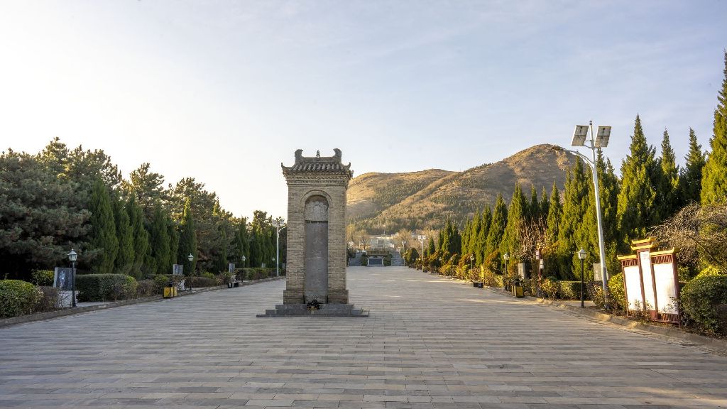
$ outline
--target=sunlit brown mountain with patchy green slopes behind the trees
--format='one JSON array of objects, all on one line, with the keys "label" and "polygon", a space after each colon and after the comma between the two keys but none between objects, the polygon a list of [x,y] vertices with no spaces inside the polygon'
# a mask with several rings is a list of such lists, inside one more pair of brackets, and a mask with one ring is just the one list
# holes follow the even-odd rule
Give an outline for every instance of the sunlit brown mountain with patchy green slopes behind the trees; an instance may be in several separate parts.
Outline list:
[{"label": "sunlit brown mountain with patchy green slopes behind the trees", "polygon": [[530,186],[538,197],[553,181],[561,190],[566,170],[575,156],[555,151],[554,145],[527,148],[502,161],[482,164],[464,172],[441,169],[406,173],[370,172],[353,178],[348,186],[346,218],[369,233],[400,229],[440,229],[447,218],[462,223],[497,194],[510,202],[519,182],[530,199]]}]

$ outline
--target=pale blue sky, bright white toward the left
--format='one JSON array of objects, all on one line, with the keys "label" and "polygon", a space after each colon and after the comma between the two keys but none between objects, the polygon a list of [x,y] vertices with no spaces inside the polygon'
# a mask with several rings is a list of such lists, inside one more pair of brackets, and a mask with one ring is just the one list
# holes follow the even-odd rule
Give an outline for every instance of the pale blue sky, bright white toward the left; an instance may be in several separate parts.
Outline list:
[{"label": "pale blue sky, bright white toward the left", "polygon": [[4,0],[0,150],[57,136],[274,217],[298,148],[340,148],[354,175],[459,171],[593,120],[618,170],[639,114],[683,164],[689,127],[709,146],[725,17],[708,0]]}]

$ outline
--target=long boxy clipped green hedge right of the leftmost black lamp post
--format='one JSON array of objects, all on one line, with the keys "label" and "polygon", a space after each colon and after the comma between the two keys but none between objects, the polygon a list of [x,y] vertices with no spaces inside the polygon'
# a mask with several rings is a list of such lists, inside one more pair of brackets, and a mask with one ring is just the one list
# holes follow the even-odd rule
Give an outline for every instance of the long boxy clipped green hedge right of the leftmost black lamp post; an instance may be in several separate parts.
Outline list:
[{"label": "long boxy clipped green hedge right of the leftmost black lamp post", "polygon": [[134,298],[137,282],[126,274],[83,274],[76,276],[79,301],[117,301]]}]

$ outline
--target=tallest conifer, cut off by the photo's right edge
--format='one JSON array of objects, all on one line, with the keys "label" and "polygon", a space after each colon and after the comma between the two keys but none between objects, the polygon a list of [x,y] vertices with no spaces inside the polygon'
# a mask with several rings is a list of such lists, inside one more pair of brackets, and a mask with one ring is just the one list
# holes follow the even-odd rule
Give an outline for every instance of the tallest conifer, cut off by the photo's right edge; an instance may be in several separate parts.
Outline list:
[{"label": "tallest conifer, cut off by the photo's right edge", "polygon": [[702,204],[727,202],[727,52],[722,90],[717,96],[710,154],[702,170]]}]

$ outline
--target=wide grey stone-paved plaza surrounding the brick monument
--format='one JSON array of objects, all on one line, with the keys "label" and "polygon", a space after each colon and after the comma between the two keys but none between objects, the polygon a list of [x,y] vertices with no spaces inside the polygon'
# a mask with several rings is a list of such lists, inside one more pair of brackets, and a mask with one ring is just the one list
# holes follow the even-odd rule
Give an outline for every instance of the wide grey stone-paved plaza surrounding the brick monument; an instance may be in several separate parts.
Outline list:
[{"label": "wide grey stone-paved plaza surrounding the brick monument", "polygon": [[0,328],[0,408],[727,408],[727,357],[403,267],[368,318],[265,282]]}]

